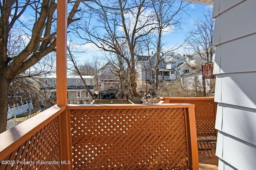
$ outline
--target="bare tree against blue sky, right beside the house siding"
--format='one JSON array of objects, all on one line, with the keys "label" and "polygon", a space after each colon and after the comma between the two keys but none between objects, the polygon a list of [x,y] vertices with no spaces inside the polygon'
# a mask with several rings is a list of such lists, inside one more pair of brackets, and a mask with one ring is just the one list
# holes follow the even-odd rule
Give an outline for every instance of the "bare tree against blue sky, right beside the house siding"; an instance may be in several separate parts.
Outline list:
[{"label": "bare tree against blue sky, right beside the house siding", "polygon": [[212,63],[215,53],[215,47],[212,43],[214,22],[212,12],[209,9],[204,11],[202,18],[194,23],[195,29],[190,31],[191,37],[188,41],[189,49],[194,51],[206,63]]}]

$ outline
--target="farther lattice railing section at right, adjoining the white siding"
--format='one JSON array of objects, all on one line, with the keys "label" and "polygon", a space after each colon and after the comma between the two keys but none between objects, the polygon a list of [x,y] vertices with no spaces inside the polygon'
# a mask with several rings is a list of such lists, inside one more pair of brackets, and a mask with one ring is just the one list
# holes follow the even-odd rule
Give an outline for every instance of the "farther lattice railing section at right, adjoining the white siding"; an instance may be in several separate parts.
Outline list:
[{"label": "farther lattice railing section at right, adjoining the white siding", "polygon": [[214,98],[172,98],[160,97],[159,103],[191,103],[195,104],[197,137],[216,136],[215,119],[217,103]]}]

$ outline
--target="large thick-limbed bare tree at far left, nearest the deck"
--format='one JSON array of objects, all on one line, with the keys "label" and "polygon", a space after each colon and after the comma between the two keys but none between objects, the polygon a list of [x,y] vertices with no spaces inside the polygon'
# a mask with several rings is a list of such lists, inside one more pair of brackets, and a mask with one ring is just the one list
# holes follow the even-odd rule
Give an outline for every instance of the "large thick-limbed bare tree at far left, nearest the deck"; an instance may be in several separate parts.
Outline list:
[{"label": "large thick-limbed bare tree at far left, nearest the deck", "polygon": [[[73,21],[80,1],[72,4],[68,15],[68,25]],[[22,15],[27,10],[34,19],[32,22],[23,21]],[[54,27],[56,18],[55,0],[0,0],[0,133],[6,130],[8,89],[11,81],[18,74],[25,72],[36,64],[47,54],[55,51],[56,29]],[[34,14],[32,14],[34,12]],[[33,16],[34,15],[34,16]],[[16,26],[19,26],[26,34],[26,40],[22,50],[10,49],[8,41],[10,34],[14,33]],[[18,41],[18,40],[17,40]],[[10,55],[10,51],[15,51]]]}]

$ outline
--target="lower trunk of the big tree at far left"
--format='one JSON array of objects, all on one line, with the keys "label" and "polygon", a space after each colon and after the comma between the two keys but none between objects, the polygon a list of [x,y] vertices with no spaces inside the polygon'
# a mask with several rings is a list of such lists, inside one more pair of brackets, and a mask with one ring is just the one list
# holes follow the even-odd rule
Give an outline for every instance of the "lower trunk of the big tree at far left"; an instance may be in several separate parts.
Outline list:
[{"label": "lower trunk of the big tree at far left", "polygon": [[0,133],[6,131],[7,111],[8,111],[8,90],[10,80],[8,80],[3,72],[0,72]]}]

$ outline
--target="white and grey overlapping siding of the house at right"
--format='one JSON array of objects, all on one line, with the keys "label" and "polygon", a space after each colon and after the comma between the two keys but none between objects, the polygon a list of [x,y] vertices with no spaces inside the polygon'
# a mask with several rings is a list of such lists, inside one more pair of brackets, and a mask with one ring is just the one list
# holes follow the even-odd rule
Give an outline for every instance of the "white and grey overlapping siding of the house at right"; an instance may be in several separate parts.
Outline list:
[{"label": "white and grey overlapping siding of the house at right", "polygon": [[213,0],[219,170],[256,167],[256,1]]}]

